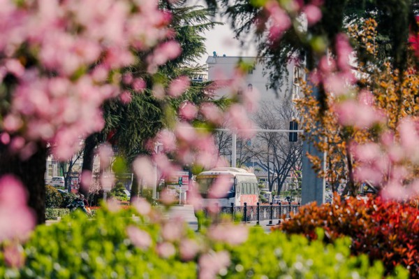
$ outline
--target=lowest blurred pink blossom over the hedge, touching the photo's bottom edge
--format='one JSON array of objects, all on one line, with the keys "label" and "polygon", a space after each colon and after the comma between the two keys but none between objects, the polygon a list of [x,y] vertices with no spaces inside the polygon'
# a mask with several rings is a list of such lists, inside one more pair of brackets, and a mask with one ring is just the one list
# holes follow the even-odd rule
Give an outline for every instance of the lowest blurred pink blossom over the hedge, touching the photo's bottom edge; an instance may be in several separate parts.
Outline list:
[{"label": "lowest blurred pink blossom over the hedge, touching the photo's bottom edge", "polygon": [[210,252],[198,259],[199,279],[213,279],[220,271],[230,265],[230,255],[227,251]]}]

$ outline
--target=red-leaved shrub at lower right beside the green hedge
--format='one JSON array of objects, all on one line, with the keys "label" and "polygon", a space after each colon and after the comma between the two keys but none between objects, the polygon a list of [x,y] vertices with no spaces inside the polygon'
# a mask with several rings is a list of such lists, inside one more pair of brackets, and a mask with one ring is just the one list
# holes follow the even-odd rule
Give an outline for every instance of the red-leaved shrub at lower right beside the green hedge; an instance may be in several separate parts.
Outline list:
[{"label": "red-leaved shrub at lower right beside the green hedge", "polygon": [[379,197],[345,201],[336,197],[333,204],[302,206],[300,213],[277,229],[314,239],[317,227],[325,230],[325,241],[350,236],[354,255],[365,253],[372,260],[380,259],[387,271],[402,264],[409,269],[411,278],[419,278],[417,207]]}]

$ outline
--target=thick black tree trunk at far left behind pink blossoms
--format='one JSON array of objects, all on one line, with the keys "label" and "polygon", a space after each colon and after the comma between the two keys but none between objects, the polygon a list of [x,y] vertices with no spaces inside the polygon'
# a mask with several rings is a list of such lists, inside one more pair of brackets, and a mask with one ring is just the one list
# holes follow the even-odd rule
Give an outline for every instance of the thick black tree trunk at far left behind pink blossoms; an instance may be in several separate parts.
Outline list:
[{"label": "thick black tree trunk at far left behind pink blossoms", "polygon": [[37,151],[26,160],[11,153],[7,145],[0,144],[0,176],[13,174],[20,179],[29,194],[28,206],[36,214],[36,223],[45,223],[45,164],[47,147],[37,143]]}]

